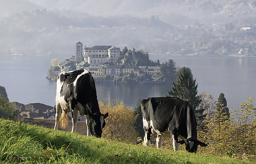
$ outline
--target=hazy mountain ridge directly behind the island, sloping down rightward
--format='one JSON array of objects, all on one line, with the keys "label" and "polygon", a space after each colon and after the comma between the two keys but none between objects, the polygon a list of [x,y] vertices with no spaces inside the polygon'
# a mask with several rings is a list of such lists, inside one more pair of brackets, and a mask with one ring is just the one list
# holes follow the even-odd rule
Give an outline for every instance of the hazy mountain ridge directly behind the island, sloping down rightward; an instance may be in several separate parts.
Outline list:
[{"label": "hazy mountain ridge directly behind the island, sloping down rightward", "polygon": [[37,9],[15,13],[0,19],[0,50],[3,54],[69,54],[75,53],[75,43],[115,45],[121,48],[146,49],[143,39],[162,37],[172,26],[157,17],[141,18],[129,15],[100,17],[73,11]]}]

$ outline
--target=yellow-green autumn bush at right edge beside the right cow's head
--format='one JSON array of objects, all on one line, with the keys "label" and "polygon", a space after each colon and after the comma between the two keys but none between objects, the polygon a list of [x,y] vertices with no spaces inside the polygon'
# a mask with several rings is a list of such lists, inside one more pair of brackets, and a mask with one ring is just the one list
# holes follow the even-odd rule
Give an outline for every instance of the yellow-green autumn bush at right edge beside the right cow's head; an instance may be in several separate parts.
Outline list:
[{"label": "yellow-green autumn bush at right edge beside the right cow's head", "polygon": [[208,143],[208,147],[200,149],[201,152],[241,158],[255,155],[256,113],[253,101],[253,97],[249,97],[239,110],[232,110],[230,119],[222,112],[226,108],[224,106],[221,110],[207,111],[205,129],[197,132],[199,138]]}]

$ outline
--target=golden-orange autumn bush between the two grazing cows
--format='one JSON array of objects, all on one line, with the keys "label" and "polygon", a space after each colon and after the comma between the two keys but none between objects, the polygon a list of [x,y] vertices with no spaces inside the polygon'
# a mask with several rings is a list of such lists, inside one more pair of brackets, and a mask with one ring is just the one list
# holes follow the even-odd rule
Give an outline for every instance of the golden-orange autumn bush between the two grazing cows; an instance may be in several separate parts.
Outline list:
[{"label": "golden-orange autumn bush between the two grazing cows", "polygon": [[137,115],[135,112],[125,107],[123,102],[114,106],[99,102],[99,106],[102,113],[108,112],[102,137],[135,144],[137,142],[135,130]]}]

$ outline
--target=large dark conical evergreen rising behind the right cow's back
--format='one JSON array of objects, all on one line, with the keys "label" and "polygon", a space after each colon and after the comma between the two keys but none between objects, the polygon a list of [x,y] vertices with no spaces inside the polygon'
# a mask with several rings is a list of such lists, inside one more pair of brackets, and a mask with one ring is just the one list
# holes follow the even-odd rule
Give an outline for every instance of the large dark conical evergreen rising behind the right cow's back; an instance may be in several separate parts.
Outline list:
[{"label": "large dark conical evergreen rising behind the right cow's back", "polygon": [[201,97],[197,95],[198,83],[196,84],[195,81],[196,80],[193,79],[191,70],[187,67],[183,67],[178,72],[177,84],[172,82],[172,89],[170,89],[168,93],[170,96],[179,97],[185,101],[188,101],[196,115],[201,116],[203,114],[203,110],[197,110],[197,106],[199,106],[201,102]]}]

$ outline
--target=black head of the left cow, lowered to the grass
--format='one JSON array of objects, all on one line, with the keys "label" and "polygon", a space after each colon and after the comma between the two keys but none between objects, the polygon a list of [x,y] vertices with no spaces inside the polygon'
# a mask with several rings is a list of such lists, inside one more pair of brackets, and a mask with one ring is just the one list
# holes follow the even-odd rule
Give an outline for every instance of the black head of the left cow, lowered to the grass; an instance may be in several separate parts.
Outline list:
[{"label": "black head of the left cow, lowered to the grass", "polygon": [[105,118],[108,117],[106,114],[93,114],[92,119],[89,121],[89,128],[93,136],[101,137],[102,129],[106,125]]}]

